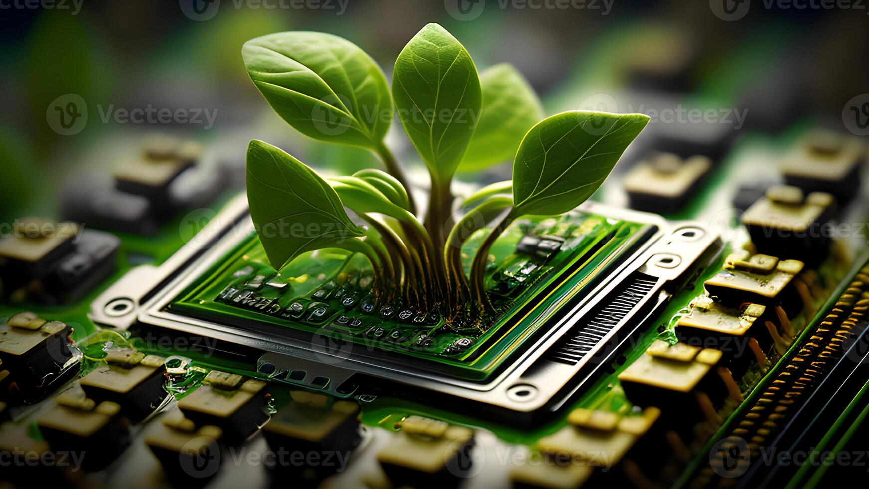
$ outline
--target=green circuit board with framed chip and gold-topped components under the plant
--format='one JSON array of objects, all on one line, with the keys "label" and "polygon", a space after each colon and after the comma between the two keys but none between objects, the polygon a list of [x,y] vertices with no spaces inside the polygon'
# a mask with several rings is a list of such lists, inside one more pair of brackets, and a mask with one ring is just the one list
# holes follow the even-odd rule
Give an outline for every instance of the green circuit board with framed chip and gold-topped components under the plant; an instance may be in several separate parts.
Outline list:
[{"label": "green circuit board with framed chip and gold-topped components under the plant", "polygon": [[[711,78],[693,95],[738,84]],[[547,108],[600,80],[574,82]],[[275,269],[243,161],[136,132],[118,148],[159,171],[3,209],[0,482],[853,486],[837,456],[866,450],[869,147],[783,127],[650,126],[591,200],[495,241],[481,319],[375,293],[338,248]]]}]

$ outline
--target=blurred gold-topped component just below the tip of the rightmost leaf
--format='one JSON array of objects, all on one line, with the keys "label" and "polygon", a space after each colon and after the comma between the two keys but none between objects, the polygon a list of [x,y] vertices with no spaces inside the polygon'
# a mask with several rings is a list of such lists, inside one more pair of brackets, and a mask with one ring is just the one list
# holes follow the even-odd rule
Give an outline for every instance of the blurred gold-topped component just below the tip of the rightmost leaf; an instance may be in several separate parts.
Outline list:
[{"label": "blurred gold-topped component just below the tip of the rightmost leaf", "polygon": [[622,180],[631,208],[662,214],[678,212],[712,169],[712,160],[694,155],[682,159],[658,153],[640,161]]}]

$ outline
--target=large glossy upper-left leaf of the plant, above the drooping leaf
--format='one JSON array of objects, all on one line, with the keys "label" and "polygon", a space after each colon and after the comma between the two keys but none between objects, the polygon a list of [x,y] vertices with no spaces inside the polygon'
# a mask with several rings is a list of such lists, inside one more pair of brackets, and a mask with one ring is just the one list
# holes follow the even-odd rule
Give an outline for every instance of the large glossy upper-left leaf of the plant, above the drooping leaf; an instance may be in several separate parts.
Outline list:
[{"label": "large glossy upper-left leaf of the plant, above the drooping leaf", "polygon": [[321,32],[281,32],[242,47],[250,79],[278,115],[326,142],[375,149],[392,121],[383,72],[354,43]]}]

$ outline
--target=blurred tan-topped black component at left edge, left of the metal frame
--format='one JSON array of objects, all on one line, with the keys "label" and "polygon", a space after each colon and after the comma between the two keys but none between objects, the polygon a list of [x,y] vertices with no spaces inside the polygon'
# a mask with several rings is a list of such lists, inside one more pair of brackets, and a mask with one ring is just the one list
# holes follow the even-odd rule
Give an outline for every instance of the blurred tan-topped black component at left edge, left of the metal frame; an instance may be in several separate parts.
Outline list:
[{"label": "blurred tan-topped black component at left edge, left of the metal frame", "polygon": [[112,274],[121,241],[71,222],[18,220],[0,239],[0,282],[9,301],[77,301]]}]

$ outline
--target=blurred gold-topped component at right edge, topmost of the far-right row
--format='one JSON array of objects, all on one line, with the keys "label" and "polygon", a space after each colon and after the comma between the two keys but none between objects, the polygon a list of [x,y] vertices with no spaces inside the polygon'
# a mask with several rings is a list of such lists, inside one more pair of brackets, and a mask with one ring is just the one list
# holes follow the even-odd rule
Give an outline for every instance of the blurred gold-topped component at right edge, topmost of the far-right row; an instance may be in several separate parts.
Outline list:
[{"label": "blurred gold-topped component at right edge, topmost of the far-right row", "polygon": [[859,139],[829,131],[806,135],[779,166],[785,182],[806,192],[826,192],[845,204],[860,188],[866,146]]}]

